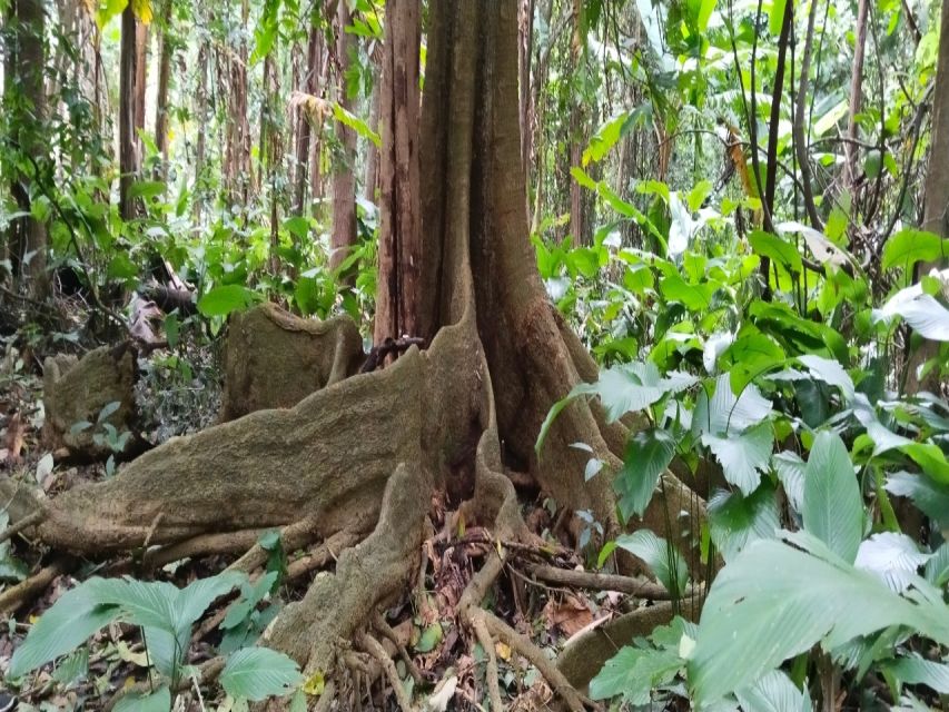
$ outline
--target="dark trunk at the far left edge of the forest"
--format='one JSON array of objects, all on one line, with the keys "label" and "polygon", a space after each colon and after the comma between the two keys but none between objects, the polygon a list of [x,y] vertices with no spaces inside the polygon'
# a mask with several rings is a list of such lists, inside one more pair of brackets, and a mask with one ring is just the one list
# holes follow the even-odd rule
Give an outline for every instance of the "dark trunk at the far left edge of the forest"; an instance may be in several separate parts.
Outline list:
[{"label": "dark trunk at the far left edge of the forest", "polygon": [[[10,191],[18,208],[29,212],[32,195],[41,190],[41,181],[52,180],[52,176],[47,175],[49,157],[43,137],[46,14],[41,0],[12,0],[8,7],[8,22],[13,31],[4,67],[6,125],[17,150],[28,159],[28,168],[9,165],[3,167],[3,174],[11,180]],[[49,293],[46,225],[31,216],[12,220],[7,245],[16,261],[20,288],[36,299],[46,298]]]}]

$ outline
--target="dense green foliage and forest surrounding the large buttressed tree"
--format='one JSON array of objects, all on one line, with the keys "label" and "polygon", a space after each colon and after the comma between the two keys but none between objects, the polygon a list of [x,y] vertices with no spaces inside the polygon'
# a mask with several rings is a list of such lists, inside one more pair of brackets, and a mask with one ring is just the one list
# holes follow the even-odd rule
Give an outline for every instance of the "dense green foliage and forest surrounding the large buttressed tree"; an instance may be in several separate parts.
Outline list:
[{"label": "dense green foliage and forest surrounding the large buttressed tree", "polygon": [[[386,8],[127,4],[0,0],[0,388],[29,387],[41,355],[130,335],[148,346],[147,429],[166,439],[211,418],[235,312],[271,300],[345,313],[372,346]],[[595,457],[584,473],[615,475],[624,523],[669,468],[708,503],[688,550],[648,530],[603,541],[602,523],[577,513],[589,567],[613,572],[626,552],[676,613],[704,596],[698,620],[676,615],[621,646],[590,696],[613,709],[942,709],[949,218],[927,197],[931,168],[949,160],[931,130],[949,111],[935,106],[949,97],[936,88],[949,82],[937,72],[941,6],[520,4],[524,149],[511,161],[526,171],[547,295],[602,367],[553,406],[536,452],[571,402],[596,398],[609,422],[643,423],[619,473]],[[42,19],[27,23],[27,6]],[[138,47],[135,97],[119,81],[135,27],[123,14],[152,48],[148,59]],[[29,43],[41,102],[34,69],[17,63]],[[156,318],[142,305],[169,286],[186,300]],[[108,415],[77,432],[118,454],[129,434],[102,426]],[[42,481],[52,461],[36,459]],[[169,709],[197,674],[192,626],[240,589],[220,622],[225,693],[305,705],[322,679],[255,645],[280,594],[271,568],[256,584],[224,573],[180,590],[89,577],[32,625],[4,674],[26,685],[70,654],[57,670],[68,685],[89,668],[88,650],[73,651],[121,622],[141,629],[146,666],[166,681],[138,703]],[[0,580],[27,576],[0,543]],[[438,641],[417,627],[427,652]]]}]

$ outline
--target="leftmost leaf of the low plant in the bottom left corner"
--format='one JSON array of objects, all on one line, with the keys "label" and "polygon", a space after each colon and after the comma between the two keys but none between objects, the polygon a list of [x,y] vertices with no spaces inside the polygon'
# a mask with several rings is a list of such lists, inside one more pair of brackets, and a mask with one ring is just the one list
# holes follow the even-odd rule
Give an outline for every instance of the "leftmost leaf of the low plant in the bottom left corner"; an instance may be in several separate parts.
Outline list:
[{"label": "leftmost leaf of the low plant in the bottom left corner", "polygon": [[115,605],[105,605],[89,581],[62,594],[30,629],[27,639],[13,651],[7,674],[12,678],[36,670],[51,660],[72,652],[99,629],[118,617]]}]

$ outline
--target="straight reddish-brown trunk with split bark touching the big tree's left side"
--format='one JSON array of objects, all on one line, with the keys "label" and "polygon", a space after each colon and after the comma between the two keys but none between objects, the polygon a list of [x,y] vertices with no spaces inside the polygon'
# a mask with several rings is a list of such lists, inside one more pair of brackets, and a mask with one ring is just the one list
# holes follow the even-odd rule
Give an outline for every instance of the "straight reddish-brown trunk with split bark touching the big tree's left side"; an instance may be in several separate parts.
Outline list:
[{"label": "straight reddish-brown trunk with split bark touching the big tree's left side", "polygon": [[432,336],[421,322],[422,230],[418,199],[418,0],[403,0],[386,12],[383,50],[382,130],[386,156],[379,176],[382,235],[376,295],[375,342]]}]

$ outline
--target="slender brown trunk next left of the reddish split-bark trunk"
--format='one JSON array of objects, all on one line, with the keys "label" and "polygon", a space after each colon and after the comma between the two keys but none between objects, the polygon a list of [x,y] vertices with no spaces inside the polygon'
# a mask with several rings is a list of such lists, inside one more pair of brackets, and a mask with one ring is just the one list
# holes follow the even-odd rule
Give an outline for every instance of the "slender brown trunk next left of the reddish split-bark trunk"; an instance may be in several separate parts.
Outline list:
[{"label": "slender brown trunk next left of the reddish split-bark trunk", "polygon": [[[355,39],[346,32],[353,21],[353,16],[346,2],[339,2],[336,8],[336,87],[339,92],[339,103],[346,109],[352,105],[346,97],[346,71],[349,68],[349,53],[355,50]],[[342,265],[349,248],[356,244],[356,132],[336,122],[339,136],[340,155],[333,166],[333,233],[329,257],[330,269]]]}]

